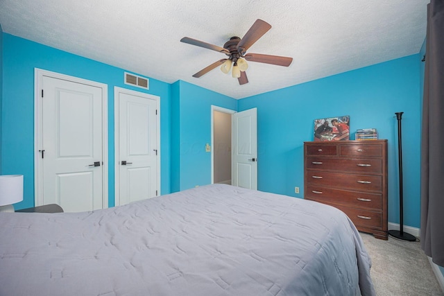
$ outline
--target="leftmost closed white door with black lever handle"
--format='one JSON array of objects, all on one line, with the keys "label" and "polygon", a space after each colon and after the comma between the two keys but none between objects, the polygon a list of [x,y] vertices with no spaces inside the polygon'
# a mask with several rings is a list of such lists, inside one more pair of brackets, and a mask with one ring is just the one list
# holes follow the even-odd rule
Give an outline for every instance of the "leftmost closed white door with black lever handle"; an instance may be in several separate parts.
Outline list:
[{"label": "leftmost closed white door with black lever handle", "polygon": [[45,75],[40,87],[41,195],[36,205],[56,203],[67,212],[108,207],[103,193],[103,88]]}]

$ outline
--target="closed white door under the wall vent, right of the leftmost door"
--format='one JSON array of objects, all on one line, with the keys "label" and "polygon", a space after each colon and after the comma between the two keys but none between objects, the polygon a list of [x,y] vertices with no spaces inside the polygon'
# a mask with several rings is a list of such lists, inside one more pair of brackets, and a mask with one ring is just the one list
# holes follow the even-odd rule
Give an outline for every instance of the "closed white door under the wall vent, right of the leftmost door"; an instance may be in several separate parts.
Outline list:
[{"label": "closed white door under the wall vent, right of the leftmost door", "polygon": [[160,194],[159,97],[116,90],[116,205]]}]

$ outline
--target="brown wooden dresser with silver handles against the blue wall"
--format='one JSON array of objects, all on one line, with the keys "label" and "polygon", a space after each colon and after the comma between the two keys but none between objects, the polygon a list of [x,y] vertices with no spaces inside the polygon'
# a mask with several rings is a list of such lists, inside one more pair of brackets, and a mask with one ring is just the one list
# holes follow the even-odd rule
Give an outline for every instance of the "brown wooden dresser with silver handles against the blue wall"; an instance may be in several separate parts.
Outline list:
[{"label": "brown wooden dresser with silver handles against the blue wall", "polygon": [[341,209],[387,239],[387,140],[304,143],[304,198]]}]

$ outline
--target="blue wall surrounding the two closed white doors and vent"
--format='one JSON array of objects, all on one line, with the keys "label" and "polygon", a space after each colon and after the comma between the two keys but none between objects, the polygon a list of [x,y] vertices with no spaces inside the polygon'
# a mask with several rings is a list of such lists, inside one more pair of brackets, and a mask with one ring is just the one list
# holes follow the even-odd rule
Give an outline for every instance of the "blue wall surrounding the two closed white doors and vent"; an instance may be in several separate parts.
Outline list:
[{"label": "blue wall surrounding the two closed white doors and vent", "polygon": [[1,173],[24,175],[24,201],[34,206],[34,68],[94,80],[108,85],[108,198],[114,205],[114,86],[160,96],[161,192],[170,192],[171,85],[150,79],[145,91],[123,83],[123,69],[82,58],[6,33],[3,37],[3,112]]}]

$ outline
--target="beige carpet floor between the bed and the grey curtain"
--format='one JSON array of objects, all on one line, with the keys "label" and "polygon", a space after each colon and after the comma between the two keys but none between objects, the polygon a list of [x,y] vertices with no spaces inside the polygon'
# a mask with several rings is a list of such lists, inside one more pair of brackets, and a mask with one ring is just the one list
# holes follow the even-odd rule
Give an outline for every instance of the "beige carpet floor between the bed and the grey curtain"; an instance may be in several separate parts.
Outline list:
[{"label": "beige carpet floor between the bed and the grey curtain", "polygon": [[420,242],[401,241],[388,236],[388,241],[361,232],[372,259],[370,275],[377,296],[444,295]]}]

